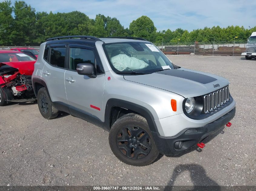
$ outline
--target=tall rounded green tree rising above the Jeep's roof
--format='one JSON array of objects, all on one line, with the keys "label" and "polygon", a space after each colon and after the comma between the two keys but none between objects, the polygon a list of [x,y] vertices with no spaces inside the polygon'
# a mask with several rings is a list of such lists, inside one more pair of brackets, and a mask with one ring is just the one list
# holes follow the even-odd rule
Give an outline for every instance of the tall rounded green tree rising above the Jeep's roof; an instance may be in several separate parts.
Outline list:
[{"label": "tall rounded green tree rising above the Jeep's roof", "polygon": [[134,37],[141,37],[148,39],[151,33],[156,32],[156,27],[153,21],[147,16],[141,16],[140,18],[131,22],[129,27]]}]

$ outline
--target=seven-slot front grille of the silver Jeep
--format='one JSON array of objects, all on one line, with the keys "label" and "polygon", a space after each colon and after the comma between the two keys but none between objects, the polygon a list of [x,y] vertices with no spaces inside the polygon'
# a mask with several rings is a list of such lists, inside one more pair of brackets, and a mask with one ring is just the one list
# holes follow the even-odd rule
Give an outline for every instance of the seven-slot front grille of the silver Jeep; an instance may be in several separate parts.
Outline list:
[{"label": "seven-slot front grille of the silver Jeep", "polygon": [[215,110],[229,101],[228,86],[218,91],[204,95],[204,113]]}]

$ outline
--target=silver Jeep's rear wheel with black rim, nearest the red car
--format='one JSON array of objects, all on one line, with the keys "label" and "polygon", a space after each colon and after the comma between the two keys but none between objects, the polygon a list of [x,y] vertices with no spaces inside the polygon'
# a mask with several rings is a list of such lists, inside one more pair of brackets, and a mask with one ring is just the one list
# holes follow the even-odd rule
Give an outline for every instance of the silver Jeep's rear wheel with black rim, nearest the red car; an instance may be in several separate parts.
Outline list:
[{"label": "silver Jeep's rear wheel with black rim, nearest the red car", "polygon": [[37,93],[38,109],[45,119],[53,119],[58,116],[59,110],[57,110],[52,103],[50,96],[45,88],[40,88]]}]

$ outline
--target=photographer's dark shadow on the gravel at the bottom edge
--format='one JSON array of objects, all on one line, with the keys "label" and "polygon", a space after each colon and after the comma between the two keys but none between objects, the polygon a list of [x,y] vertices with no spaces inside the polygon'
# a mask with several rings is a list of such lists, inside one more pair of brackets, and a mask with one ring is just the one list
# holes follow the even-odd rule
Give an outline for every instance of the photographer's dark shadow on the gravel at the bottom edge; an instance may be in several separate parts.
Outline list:
[{"label": "photographer's dark shadow on the gravel at the bottom edge", "polygon": [[[173,169],[173,173],[171,178],[167,184],[167,186],[173,186],[175,181],[178,180],[179,177],[184,178],[184,173],[188,171],[190,173],[191,182],[194,186],[181,186],[180,188],[175,187],[165,187],[165,190],[221,190],[221,187],[214,180],[211,180],[210,177],[207,176],[204,167],[199,164],[179,164]],[[188,180],[187,177],[185,177]],[[186,181],[187,182],[187,181]],[[203,186],[209,186],[208,188]],[[182,188],[183,187],[183,188]],[[187,188],[186,188],[187,187]]]}]

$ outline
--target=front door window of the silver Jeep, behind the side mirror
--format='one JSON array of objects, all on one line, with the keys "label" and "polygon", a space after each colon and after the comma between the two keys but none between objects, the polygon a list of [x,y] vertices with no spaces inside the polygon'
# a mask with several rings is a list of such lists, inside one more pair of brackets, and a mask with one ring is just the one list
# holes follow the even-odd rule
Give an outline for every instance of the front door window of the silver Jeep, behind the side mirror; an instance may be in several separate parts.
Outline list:
[{"label": "front door window of the silver Jeep, behind the side mirror", "polygon": [[70,48],[70,69],[76,70],[78,64],[93,64],[96,65],[96,73],[103,73],[101,65],[96,62],[95,55],[92,50],[84,48]]}]

